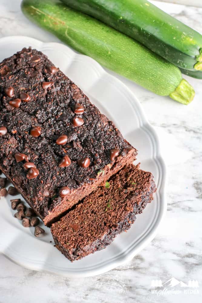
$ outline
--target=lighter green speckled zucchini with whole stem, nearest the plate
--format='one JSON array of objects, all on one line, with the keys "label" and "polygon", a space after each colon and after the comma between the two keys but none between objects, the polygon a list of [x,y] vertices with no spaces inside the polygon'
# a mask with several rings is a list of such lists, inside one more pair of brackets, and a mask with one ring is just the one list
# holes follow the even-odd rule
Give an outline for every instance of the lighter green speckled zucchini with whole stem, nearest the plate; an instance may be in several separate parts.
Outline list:
[{"label": "lighter green speckled zucchini with whole stem, nearest the plate", "polygon": [[148,90],[183,104],[194,98],[179,68],[104,23],[58,0],[23,0],[22,11],[78,52]]}]

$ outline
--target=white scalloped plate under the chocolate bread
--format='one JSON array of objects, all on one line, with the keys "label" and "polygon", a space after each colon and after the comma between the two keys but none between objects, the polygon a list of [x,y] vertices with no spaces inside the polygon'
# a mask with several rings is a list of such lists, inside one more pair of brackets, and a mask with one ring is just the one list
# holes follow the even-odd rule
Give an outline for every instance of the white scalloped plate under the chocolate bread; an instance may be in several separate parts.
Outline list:
[{"label": "white scalloped plate under the chocolate bread", "polygon": [[0,43],[0,62],[28,46],[48,55],[78,84],[91,102],[114,121],[124,138],[139,150],[138,162],[141,162],[141,168],[153,173],[158,189],[154,201],[141,215],[137,215],[136,222],[127,233],[118,235],[107,248],[73,263],[54,247],[49,228],[43,227],[46,234],[36,238],[34,228],[22,227],[21,221],[13,217],[15,211],[10,206],[13,197],[2,197],[0,252],[26,268],[74,277],[98,275],[129,261],[154,238],[167,209],[164,161],[157,134],[148,123],[140,103],[126,85],[105,72],[96,61],[63,44],[43,43],[23,36],[1,38]]}]

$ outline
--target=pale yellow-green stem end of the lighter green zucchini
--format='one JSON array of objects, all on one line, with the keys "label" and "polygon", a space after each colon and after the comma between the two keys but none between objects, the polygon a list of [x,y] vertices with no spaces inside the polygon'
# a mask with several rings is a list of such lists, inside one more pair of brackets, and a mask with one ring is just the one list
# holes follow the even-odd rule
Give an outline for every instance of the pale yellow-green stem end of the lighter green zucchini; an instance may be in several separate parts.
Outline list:
[{"label": "pale yellow-green stem end of the lighter green zucchini", "polygon": [[187,80],[182,79],[177,88],[169,96],[182,103],[189,104],[194,99],[194,88],[187,82]]}]

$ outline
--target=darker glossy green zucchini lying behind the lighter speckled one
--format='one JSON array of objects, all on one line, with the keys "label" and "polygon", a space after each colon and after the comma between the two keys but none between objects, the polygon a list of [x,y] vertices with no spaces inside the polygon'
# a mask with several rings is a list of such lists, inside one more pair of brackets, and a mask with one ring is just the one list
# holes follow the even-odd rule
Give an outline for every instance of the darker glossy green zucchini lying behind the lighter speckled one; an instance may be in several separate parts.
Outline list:
[{"label": "darker glossy green zucchini lying behind the lighter speckled one", "polygon": [[202,70],[202,35],[146,0],[62,0],[111,25],[174,65]]}]

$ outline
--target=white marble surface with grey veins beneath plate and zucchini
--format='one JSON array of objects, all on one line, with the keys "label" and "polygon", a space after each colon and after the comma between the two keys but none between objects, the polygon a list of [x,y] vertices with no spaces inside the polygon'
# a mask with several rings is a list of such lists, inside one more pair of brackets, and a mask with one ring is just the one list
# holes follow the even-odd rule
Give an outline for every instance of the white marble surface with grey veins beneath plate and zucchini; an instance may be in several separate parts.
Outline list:
[{"label": "white marble surface with grey veins beneath plate and zucchini", "polygon": [[[155,4],[202,33],[201,8]],[[0,37],[8,35],[58,42],[25,19],[20,0],[0,1]],[[202,80],[187,77],[196,97],[184,106],[118,78],[139,98],[159,133],[167,162],[168,211],[157,236],[130,263],[92,278],[70,279],[31,271],[0,255],[0,303],[202,301]],[[171,277],[185,283],[197,280],[199,294],[151,294],[152,280],[164,283]]]}]

